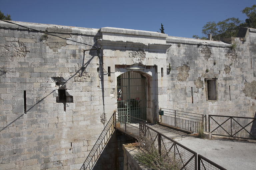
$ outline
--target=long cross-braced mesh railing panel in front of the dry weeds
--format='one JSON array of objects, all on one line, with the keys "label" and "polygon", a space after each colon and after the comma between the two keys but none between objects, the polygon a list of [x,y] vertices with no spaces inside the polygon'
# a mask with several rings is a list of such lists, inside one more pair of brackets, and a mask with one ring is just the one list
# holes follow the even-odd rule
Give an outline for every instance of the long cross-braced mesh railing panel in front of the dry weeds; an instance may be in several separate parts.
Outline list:
[{"label": "long cross-braced mesh railing panel in front of the dry weeds", "polygon": [[183,146],[175,140],[165,136],[164,134],[148,127],[140,122],[140,129],[144,136],[150,138],[154,142],[154,146],[158,148],[159,153],[165,152],[173,154],[175,159],[179,159],[182,163],[182,169],[197,170],[197,153]]}]

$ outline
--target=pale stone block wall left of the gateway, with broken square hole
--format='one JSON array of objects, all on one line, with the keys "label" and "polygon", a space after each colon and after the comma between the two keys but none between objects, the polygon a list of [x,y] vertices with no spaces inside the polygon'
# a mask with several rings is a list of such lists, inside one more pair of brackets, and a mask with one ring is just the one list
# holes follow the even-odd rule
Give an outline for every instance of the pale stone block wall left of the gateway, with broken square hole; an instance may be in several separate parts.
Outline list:
[{"label": "pale stone block wall left of the gateway, with broken square hole", "polygon": [[13,23],[0,22],[0,169],[80,169],[106,120],[98,53],[86,51],[101,33]]}]

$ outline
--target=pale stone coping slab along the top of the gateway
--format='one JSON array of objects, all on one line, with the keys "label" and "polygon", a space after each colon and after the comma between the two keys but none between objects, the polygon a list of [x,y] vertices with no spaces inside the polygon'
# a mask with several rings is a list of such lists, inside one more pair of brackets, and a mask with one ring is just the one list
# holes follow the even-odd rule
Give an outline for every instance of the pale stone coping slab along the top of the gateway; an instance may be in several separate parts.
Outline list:
[{"label": "pale stone coping slab along the top of the gateway", "polygon": [[140,35],[140,36],[150,36],[150,37],[162,37],[167,38],[167,34],[150,32],[150,31],[140,31],[140,30],[131,30],[131,29],[123,29],[123,28],[112,28],[112,27],[103,27],[100,29],[100,32],[105,33],[119,33],[119,34],[132,34],[132,35]]}]

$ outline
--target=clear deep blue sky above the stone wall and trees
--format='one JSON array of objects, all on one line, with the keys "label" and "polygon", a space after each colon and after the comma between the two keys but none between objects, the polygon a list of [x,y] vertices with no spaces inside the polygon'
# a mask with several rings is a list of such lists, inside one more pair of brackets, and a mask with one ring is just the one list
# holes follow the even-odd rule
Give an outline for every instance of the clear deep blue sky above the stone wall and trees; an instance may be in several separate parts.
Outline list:
[{"label": "clear deep blue sky above the stone wall and trees", "polygon": [[13,21],[77,26],[116,27],[157,32],[164,25],[169,36],[202,36],[210,21],[235,17],[255,0],[0,0],[0,10]]}]

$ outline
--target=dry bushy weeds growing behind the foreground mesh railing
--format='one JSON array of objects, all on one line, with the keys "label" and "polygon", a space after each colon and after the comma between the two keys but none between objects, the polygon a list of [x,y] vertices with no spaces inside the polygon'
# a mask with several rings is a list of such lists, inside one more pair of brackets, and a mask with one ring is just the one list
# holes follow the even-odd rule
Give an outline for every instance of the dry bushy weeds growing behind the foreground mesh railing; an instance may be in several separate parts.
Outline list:
[{"label": "dry bushy weeds growing behind the foreground mesh railing", "polygon": [[135,155],[135,159],[142,164],[156,170],[179,170],[182,167],[180,157],[174,153],[161,148],[161,154],[158,152],[158,145],[154,144],[149,136],[139,139],[139,152]]}]

